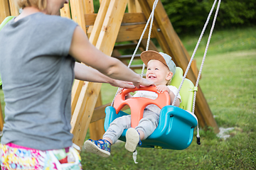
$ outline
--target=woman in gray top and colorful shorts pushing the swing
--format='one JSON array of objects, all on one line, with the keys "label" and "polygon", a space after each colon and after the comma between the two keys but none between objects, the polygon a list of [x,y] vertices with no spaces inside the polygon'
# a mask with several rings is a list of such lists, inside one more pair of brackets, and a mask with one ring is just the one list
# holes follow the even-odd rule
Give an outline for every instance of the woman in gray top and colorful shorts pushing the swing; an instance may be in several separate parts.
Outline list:
[{"label": "woman in gray top and colorful shorts pushing the swing", "polygon": [[81,169],[70,133],[73,79],[124,88],[154,83],[97,50],[76,23],[55,16],[68,0],[17,3],[22,13],[0,31],[1,169]]}]

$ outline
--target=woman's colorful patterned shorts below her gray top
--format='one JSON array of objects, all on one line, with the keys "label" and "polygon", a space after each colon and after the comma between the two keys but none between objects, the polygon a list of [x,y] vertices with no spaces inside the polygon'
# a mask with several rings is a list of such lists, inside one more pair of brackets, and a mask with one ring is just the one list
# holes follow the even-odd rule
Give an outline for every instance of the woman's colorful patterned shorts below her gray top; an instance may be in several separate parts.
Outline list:
[{"label": "woman's colorful patterned shorts below her gray top", "polygon": [[73,147],[41,151],[9,143],[0,145],[1,169],[82,169],[80,154]]}]

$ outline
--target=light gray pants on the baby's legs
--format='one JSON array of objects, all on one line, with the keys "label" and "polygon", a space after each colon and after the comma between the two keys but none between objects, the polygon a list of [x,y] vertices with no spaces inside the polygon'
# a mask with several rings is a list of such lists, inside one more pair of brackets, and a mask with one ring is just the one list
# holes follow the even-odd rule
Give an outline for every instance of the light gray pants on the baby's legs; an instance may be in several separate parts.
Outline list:
[{"label": "light gray pants on the baby's legs", "polygon": [[[159,114],[152,111],[144,111],[143,118],[139,121],[136,130],[144,132],[144,140],[151,135],[159,124]],[[103,138],[109,137],[113,144],[117,142],[124,129],[131,128],[131,115],[124,115],[112,121],[110,128],[103,135]]]}]

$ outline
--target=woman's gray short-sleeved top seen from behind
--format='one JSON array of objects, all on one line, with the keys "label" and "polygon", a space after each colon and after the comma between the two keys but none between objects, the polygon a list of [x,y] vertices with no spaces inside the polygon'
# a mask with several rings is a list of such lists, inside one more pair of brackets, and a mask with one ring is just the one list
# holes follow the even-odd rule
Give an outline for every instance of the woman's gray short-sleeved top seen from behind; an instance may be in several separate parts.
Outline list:
[{"label": "woman's gray short-sleeved top seen from behind", "polygon": [[77,24],[34,13],[0,31],[0,73],[5,106],[1,144],[33,149],[72,145],[73,57],[68,55]]}]

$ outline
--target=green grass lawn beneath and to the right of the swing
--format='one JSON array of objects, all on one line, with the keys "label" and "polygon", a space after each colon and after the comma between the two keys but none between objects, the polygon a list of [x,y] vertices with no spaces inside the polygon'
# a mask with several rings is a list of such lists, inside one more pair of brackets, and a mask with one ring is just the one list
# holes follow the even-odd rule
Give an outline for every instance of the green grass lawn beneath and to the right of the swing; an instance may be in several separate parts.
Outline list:
[{"label": "green grass lawn beneath and to the right of the swing", "polygon": [[[181,39],[190,54],[197,39]],[[191,146],[181,151],[138,148],[139,164],[134,164],[132,153],[119,142],[112,146],[109,158],[83,150],[83,169],[256,169],[255,39],[256,28],[213,32],[203,67],[200,86],[218,126],[234,128],[228,139],[217,137],[212,128],[200,130],[201,145],[194,136]],[[206,41],[207,36],[195,56],[198,67]],[[103,84],[103,103],[110,103],[116,90]],[[3,102],[1,91],[0,97]]]}]

